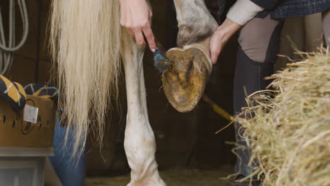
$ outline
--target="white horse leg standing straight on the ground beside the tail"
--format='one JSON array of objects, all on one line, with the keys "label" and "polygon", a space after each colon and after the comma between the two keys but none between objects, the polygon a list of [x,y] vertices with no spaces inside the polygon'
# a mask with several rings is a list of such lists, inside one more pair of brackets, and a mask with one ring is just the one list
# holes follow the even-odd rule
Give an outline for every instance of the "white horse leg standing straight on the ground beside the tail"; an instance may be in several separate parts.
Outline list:
[{"label": "white horse leg standing straight on the ground beside the tail", "polygon": [[124,147],[131,168],[128,186],[165,186],[154,157],[156,142],[147,113],[142,63],[145,47],[135,44],[125,30],[122,47],[128,103]]}]

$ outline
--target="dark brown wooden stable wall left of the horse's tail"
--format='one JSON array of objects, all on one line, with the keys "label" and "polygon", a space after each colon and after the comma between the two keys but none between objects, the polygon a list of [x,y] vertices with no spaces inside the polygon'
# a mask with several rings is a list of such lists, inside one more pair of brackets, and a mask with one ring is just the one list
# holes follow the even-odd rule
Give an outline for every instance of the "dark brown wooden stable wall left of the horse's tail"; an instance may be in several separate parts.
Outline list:
[{"label": "dark brown wooden stable wall left of the horse's tail", "polygon": [[[4,23],[8,23],[8,2],[0,1]],[[22,84],[49,80],[50,60],[45,44],[45,30],[50,1],[26,1],[29,18],[29,35],[23,47],[15,53],[13,66],[6,75]],[[18,7],[17,7],[18,8]],[[6,32],[8,30],[5,30]],[[22,37],[22,21],[16,9],[16,41]]]}]

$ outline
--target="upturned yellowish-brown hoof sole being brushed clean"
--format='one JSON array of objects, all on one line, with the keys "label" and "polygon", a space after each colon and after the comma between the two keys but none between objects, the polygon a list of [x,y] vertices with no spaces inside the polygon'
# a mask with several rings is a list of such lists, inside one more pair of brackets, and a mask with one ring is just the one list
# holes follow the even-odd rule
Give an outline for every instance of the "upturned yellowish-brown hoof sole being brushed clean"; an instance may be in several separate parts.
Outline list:
[{"label": "upturned yellowish-brown hoof sole being brushed clean", "polygon": [[165,95],[177,111],[192,111],[211,73],[211,59],[202,47],[193,44],[170,49],[166,57],[171,61],[171,68],[162,75]]}]

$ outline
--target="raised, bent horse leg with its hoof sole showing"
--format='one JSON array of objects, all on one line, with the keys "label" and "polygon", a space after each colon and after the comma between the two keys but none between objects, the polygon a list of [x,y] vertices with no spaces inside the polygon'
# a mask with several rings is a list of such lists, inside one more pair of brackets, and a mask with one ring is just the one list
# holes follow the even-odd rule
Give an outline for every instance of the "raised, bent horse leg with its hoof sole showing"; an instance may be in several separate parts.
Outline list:
[{"label": "raised, bent horse leg with its hoof sole showing", "polygon": [[178,20],[177,48],[167,51],[171,68],[162,76],[164,92],[178,111],[195,108],[212,71],[209,42],[218,26],[204,0],[174,0]]}]

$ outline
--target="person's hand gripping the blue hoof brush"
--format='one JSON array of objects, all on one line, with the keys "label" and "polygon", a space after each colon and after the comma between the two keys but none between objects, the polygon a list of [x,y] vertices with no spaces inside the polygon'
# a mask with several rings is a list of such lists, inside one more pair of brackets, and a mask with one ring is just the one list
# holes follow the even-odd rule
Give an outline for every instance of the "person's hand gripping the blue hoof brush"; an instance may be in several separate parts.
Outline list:
[{"label": "person's hand gripping the blue hoof brush", "polygon": [[[113,0],[109,0],[113,1]],[[128,34],[135,37],[139,45],[145,45],[145,37],[152,51],[156,49],[154,34],[151,29],[152,11],[146,0],[119,0],[121,4],[121,25]]]}]

